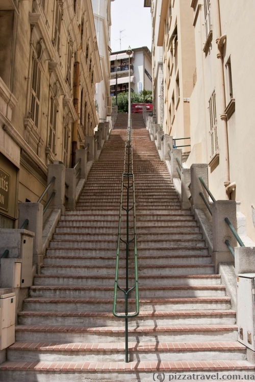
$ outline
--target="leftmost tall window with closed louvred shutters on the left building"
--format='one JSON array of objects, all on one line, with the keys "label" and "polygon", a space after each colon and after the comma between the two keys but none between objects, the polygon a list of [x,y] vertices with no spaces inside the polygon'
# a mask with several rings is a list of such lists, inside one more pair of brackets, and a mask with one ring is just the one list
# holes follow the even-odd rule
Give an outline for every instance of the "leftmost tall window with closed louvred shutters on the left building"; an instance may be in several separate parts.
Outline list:
[{"label": "leftmost tall window with closed louvred shutters on the left building", "polygon": [[32,64],[30,118],[33,120],[36,128],[38,128],[39,126],[40,84],[41,84],[41,69],[37,59],[34,57],[33,64]]}]

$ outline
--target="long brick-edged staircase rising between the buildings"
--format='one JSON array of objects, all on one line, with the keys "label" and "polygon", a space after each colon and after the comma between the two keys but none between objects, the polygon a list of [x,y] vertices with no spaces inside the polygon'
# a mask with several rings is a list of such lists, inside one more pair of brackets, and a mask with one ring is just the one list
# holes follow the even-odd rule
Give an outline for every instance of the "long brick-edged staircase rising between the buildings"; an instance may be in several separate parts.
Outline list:
[{"label": "long brick-edged staircase rising between the buildings", "polygon": [[124,363],[124,321],[112,314],[127,125],[127,115],[119,114],[24,300],[1,381],[152,381],[179,372],[199,380],[201,372],[254,371],[199,227],[181,210],[142,115],[132,117],[140,314],[129,321],[131,362]]}]

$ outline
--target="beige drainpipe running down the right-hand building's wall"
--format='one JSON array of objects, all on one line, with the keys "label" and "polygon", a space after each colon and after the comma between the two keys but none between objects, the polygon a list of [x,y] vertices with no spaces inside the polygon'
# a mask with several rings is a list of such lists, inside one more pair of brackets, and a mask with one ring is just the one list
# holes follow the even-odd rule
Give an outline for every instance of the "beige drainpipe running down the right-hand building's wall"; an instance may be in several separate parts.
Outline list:
[{"label": "beige drainpipe running down the right-hand building's wall", "polygon": [[222,55],[222,48],[226,40],[226,34],[221,35],[220,26],[220,7],[219,0],[215,2],[216,14],[216,43],[217,43],[217,58],[218,58],[218,71],[220,81],[220,119],[223,131],[223,147],[224,147],[224,186],[226,191],[226,199],[230,199],[230,192],[227,191],[227,186],[230,185],[230,160],[228,156],[228,137],[227,137],[227,121],[226,121],[226,97],[225,97],[225,82],[224,82],[224,62]]}]

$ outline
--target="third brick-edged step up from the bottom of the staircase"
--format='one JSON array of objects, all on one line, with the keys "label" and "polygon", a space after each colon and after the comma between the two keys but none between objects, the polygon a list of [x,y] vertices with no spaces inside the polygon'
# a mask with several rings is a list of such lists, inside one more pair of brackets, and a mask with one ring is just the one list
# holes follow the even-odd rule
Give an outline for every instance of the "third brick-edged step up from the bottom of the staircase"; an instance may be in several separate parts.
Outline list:
[{"label": "third brick-edged step up from the bottom of the staircase", "polygon": [[[237,341],[236,325],[138,326],[129,328],[130,342]],[[122,342],[124,326],[18,325],[16,341]]]}]

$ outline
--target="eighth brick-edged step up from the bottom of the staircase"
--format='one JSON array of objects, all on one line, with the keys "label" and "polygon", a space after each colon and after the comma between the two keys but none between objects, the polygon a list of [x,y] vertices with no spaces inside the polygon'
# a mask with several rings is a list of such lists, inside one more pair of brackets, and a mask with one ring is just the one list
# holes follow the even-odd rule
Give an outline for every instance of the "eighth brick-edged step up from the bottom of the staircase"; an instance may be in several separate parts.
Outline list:
[{"label": "eighth brick-edged step up from the bottom of the staircase", "polygon": [[[129,272],[134,274],[134,266],[129,265]],[[125,275],[125,265],[119,265],[119,275]],[[178,275],[178,274],[213,274],[214,264],[172,264],[172,265],[138,265],[138,275]],[[42,265],[42,275],[114,275],[115,265]]]}]

